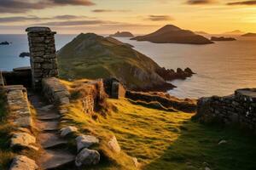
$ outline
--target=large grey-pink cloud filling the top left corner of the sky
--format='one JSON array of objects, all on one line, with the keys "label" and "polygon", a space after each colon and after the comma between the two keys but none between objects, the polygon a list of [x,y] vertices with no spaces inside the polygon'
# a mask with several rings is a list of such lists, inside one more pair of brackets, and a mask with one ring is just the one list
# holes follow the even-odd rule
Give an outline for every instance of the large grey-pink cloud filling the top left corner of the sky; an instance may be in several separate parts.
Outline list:
[{"label": "large grey-pink cloud filling the top left corner of the sky", "polygon": [[94,4],[95,3],[90,2],[90,0],[33,0],[33,2],[23,0],[1,0],[0,13],[26,13],[32,9],[44,9],[65,5],[90,6]]}]

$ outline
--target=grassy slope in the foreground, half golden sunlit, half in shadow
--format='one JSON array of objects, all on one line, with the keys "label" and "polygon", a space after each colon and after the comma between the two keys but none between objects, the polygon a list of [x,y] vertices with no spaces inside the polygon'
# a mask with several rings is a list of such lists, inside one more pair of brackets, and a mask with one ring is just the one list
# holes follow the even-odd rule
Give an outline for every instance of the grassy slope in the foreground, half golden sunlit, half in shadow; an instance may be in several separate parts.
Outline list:
[{"label": "grassy slope in the foreground, half golden sunlit, half in shadow", "polygon": [[[67,82],[66,82],[67,83]],[[72,83],[69,88],[74,87]],[[85,115],[80,100],[68,105],[62,124],[75,125],[80,131],[92,133],[102,141],[114,134],[122,148],[113,155],[105,143],[100,150],[107,157],[91,169],[134,169],[129,156],[137,157],[141,168],[253,170],[256,168],[256,137],[236,128],[205,126],[192,122],[194,114],[182,111],[156,110],[128,99],[108,99],[112,108],[107,116]],[[226,140],[225,144],[218,144]],[[109,161],[112,160],[112,161]]]}]

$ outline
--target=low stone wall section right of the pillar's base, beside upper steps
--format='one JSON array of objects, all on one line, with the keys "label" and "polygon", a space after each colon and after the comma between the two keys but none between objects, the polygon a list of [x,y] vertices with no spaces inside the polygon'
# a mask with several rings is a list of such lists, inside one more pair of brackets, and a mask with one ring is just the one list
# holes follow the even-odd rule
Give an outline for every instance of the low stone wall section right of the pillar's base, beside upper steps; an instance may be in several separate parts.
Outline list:
[{"label": "low stone wall section right of the pillar's base, beside upper steps", "polygon": [[52,102],[55,105],[69,104],[70,94],[58,78],[44,78],[42,80],[42,88],[42,93],[49,102]]}]

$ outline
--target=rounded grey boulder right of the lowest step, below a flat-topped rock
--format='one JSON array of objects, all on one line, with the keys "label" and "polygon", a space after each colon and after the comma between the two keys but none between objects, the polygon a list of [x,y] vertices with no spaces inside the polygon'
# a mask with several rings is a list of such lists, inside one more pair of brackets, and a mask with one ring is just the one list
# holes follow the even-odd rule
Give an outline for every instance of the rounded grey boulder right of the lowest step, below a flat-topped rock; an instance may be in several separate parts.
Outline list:
[{"label": "rounded grey boulder right of the lowest step, below a flat-topped rock", "polygon": [[100,154],[97,150],[89,150],[84,148],[76,157],[75,163],[77,167],[82,165],[96,165],[100,161]]}]

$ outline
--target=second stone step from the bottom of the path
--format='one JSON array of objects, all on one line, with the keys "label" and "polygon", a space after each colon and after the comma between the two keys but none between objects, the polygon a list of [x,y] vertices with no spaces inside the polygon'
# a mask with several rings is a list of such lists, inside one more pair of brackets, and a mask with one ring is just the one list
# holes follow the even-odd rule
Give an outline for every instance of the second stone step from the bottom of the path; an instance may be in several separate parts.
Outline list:
[{"label": "second stone step from the bottom of the path", "polygon": [[40,133],[38,135],[38,141],[44,149],[54,148],[67,144],[67,141],[61,139],[58,133]]}]

